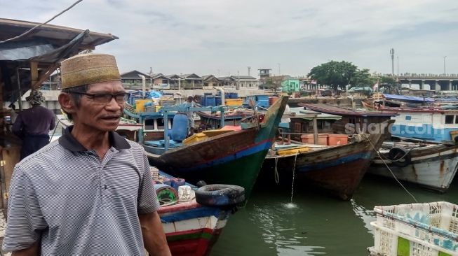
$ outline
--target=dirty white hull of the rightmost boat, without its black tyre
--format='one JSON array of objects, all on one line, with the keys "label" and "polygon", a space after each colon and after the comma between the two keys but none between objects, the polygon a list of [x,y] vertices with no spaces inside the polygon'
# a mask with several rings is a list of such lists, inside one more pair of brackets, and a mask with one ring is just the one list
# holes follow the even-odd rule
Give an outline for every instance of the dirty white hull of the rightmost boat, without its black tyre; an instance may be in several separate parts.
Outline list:
[{"label": "dirty white hull of the rightmost boat, without its black tyre", "polygon": [[[388,153],[384,153],[384,161],[399,180],[408,181],[439,192],[445,192],[457,173],[458,145],[433,145],[414,148],[410,151],[410,164],[397,166],[391,162]],[[370,173],[393,178],[379,157],[370,166]]]}]

